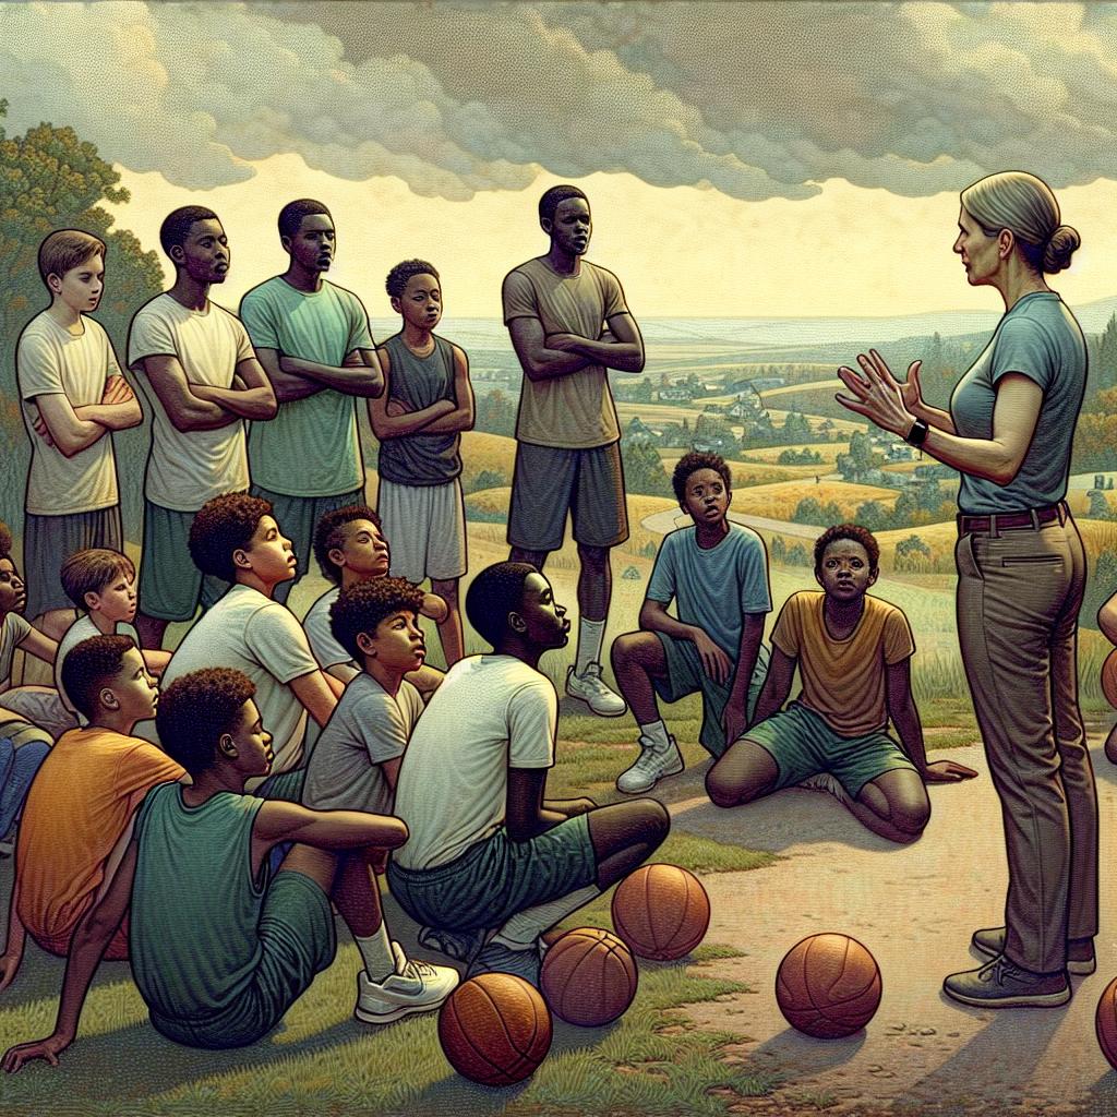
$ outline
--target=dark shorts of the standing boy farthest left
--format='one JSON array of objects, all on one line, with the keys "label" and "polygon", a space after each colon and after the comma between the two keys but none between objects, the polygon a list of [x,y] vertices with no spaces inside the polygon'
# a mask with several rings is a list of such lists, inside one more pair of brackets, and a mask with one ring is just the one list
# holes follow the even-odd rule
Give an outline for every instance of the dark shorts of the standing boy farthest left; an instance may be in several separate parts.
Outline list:
[{"label": "dark shorts of the standing boy farthest left", "polygon": [[29,620],[50,609],[73,609],[58,577],[63,563],[77,551],[105,547],[124,551],[121,506],[74,512],[63,516],[23,517],[23,584]]}]

